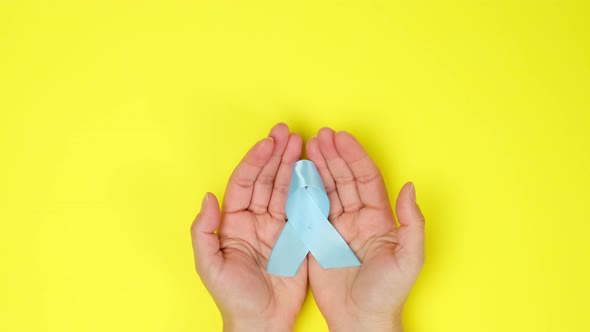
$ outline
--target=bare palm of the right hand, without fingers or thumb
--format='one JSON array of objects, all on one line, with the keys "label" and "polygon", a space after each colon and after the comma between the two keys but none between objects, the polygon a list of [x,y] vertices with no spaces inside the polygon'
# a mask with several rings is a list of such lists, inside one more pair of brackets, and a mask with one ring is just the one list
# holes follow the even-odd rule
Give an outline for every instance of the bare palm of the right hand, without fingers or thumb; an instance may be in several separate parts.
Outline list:
[{"label": "bare palm of the right hand, without fingers or thumb", "polygon": [[[386,223],[370,224],[375,220]],[[389,303],[403,302],[409,290],[403,285],[411,285],[413,276],[404,274],[397,261],[398,232],[391,215],[388,217],[385,211],[364,208],[354,213],[344,213],[331,222],[362,261],[362,265],[338,270],[324,270],[315,261],[310,265],[309,278],[316,301],[323,311],[362,310],[376,313],[391,307]],[[342,303],[348,303],[351,307],[343,308]]]}]

